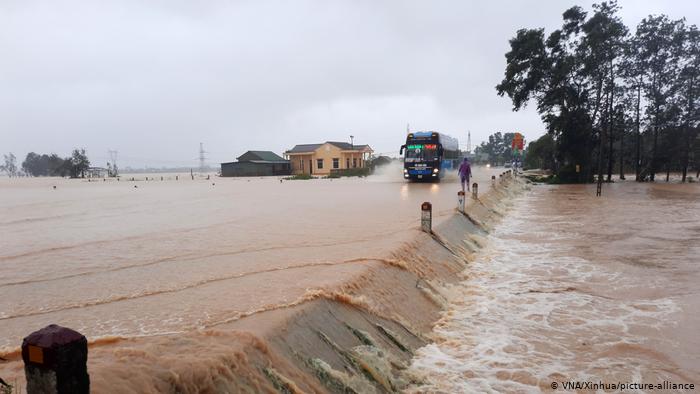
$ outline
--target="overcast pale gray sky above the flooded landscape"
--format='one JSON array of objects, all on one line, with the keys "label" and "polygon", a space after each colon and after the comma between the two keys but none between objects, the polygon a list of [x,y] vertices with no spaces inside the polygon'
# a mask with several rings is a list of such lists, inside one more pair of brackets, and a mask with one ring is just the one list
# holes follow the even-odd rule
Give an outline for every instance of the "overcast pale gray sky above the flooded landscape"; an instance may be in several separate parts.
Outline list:
[{"label": "overcast pale gray sky above the flooded landscape", "polygon": [[[396,154],[412,130],[466,145],[543,133],[496,95],[508,39],[575,1],[0,0],[0,153],[209,164],[326,140]],[[700,23],[697,1],[620,1]]]}]

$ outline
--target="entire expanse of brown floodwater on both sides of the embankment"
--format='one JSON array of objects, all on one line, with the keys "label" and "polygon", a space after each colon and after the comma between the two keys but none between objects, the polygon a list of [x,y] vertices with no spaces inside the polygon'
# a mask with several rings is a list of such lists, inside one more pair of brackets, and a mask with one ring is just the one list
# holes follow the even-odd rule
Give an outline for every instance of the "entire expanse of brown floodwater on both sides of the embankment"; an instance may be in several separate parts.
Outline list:
[{"label": "entire expanse of brown floodwater on both sides of the embankment", "polygon": [[22,338],[57,323],[91,341],[94,392],[698,382],[700,189],[491,188],[501,171],[475,169],[469,217],[452,178],[396,168],[3,179],[0,376],[21,392]]}]

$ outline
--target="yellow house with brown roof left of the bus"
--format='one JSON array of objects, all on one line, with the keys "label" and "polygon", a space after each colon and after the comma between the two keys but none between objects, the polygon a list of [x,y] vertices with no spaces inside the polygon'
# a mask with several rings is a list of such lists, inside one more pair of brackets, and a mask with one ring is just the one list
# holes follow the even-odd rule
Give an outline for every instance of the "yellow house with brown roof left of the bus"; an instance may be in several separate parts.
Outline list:
[{"label": "yellow house with brown roof left of the bus", "polygon": [[365,168],[372,154],[369,145],[327,141],[301,144],[284,152],[293,174],[329,175],[333,170]]}]

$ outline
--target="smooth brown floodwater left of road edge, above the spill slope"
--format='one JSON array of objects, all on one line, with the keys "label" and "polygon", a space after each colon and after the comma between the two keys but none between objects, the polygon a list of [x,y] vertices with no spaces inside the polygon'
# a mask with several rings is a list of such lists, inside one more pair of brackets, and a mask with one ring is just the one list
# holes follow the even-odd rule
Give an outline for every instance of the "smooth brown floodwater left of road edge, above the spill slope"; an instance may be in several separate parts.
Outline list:
[{"label": "smooth brown floodwater left of road edge, above the spill slope", "polygon": [[[0,179],[0,348],[50,323],[91,339],[211,328],[337,286],[415,236],[423,201],[436,223],[454,213],[458,183],[400,171]],[[492,173],[475,170],[484,192]]]}]

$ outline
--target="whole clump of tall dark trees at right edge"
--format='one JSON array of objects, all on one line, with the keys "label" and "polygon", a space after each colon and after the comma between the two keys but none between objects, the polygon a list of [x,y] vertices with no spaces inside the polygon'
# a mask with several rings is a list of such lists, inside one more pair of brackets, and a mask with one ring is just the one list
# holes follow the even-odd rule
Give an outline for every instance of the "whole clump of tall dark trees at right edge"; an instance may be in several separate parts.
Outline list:
[{"label": "whole clump of tall dark trees at right edge", "polygon": [[615,1],[590,15],[572,7],[546,37],[518,30],[496,90],[514,111],[536,103],[551,140],[537,160],[561,182],[609,181],[613,171],[653,181],[675,170],[685,182],[692,167],[700,175],[700,33],[666,15],[631,32],[619,10]]}]

